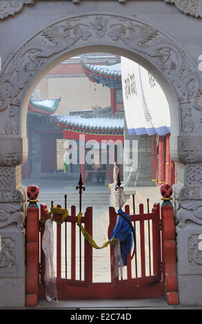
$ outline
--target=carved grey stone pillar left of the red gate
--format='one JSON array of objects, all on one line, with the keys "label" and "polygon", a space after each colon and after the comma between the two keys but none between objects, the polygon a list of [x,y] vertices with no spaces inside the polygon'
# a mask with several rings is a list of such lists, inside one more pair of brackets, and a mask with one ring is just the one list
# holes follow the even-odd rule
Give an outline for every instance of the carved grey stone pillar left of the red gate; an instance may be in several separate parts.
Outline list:
[{"label": "carved grey stone pillar left of the red gate", "polygon": [[[7,145],[4,152],[1,145],[0,160],[0,307],[25,305],[23,222],[26,212],[26,191],[21,186],[22,154],[17,152],[18,140],[10,139],[5,143]],[[14,143],[15,150],[12,146]],[[15,152],[9,153],[9,150]]]}]

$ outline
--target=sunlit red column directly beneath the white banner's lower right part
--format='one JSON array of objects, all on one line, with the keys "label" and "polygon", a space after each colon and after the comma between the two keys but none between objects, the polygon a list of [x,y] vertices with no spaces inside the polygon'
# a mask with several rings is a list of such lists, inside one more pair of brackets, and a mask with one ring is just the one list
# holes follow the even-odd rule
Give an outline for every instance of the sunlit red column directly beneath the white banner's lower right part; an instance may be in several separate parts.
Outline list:
[{"label": "sunlit red column directly beneath the white banner's lower right part", "polygon": [[159,176],[158,185],[165,183],[165,136],[159,136]]}]

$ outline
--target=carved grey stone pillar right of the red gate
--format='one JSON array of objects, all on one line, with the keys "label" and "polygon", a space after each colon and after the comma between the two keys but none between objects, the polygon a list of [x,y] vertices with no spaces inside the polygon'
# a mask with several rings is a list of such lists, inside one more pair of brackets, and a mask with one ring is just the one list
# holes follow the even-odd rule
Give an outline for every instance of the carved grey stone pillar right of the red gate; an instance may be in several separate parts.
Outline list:
[{"label": "carved grey stone pillar right of the red gate", "polygon": [[179,138],[174,206],[179,302],[202,303],[202,155],[200,136]]}]

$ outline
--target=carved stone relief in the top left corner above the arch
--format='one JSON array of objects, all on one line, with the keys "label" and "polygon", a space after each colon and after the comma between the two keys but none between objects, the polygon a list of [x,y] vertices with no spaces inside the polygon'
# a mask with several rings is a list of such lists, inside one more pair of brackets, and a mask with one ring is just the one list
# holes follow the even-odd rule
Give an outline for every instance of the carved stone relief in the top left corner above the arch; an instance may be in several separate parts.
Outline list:
[{"label": "carved stone relief in the top left corner above the arch", "polygon": [[13,16],[28,3],[33,3],[33,0],[0,0],[0,19]]}]

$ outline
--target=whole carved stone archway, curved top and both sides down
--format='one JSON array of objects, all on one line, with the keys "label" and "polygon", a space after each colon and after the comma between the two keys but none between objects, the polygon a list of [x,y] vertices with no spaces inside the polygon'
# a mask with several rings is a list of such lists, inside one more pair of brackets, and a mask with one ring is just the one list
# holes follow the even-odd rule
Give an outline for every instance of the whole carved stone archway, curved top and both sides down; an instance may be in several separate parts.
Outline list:
[{"label": "whole carved stone archway, curved top and both sides down", "polygon": [[[202,274],[201,263],[199,266],[197,260],[193,261],[196,251],[184,245],[184,240],[189,244],[189,237],[202,232],[202,80],[190,54],[172,37],[145,21],[117,14],[89,13],[60,19],[36,32],[3,63],[0,80],[0,230],[5,240],[12,240],[14,259],[9,263],[8,278],[18,277],[21,282],[24,278],[23,257],[17,259],[15,251],[18,244],[23,246],[26,199],[20,165],[27,157],[26,113],[30,94],[39,79],[64,57],[92,51],[114,52],[138,61],[154,74],[168,98],[170,152],[172,159],[177,161],[174,191],[179,222],[176,226],[179,288],[183,301],[183,294],[189,294],[190,286],[187,285],[185,292],[181,281],[186,276],[194,280],[193,262],[197,265],[197,275]],[[191,220],[191,225],[185,226],[187,220]],[[16,228],[11,227],[14,223],[17,223]],[[9,236],[8,229],[3,230],[8,226],[12,229]],[[188,253],[192,263],[185,261]],[[185,259],[181,259],[185,254]],[[3,270],[7,278],[7,263]],[[23,297],[21,303],[22,300]]]}]

